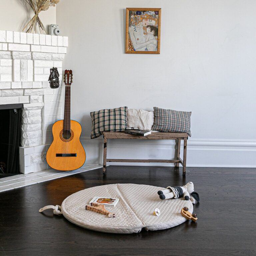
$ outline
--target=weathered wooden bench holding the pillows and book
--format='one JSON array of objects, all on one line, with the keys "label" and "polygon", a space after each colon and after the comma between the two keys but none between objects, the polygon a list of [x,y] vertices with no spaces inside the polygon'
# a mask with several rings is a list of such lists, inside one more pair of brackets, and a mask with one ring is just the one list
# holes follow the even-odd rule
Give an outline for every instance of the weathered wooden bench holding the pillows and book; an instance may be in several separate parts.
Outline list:
[{"label": "weathered wooden bench holding the pillows and book", "polygon": [[[126,134],[124,132],[103,132],[104,150],[103,150],[103,175],[106,175],[107,162],[127,162],[127,163],[174,163],[175,167],[179,164],[183,166],[183,176],[186,175],[186,161],[187,161],[187,133],[177,132],[152,132],[147,136],[136,136]],[[109,159],[107,158],[107,142],[108,139],[142,139],[142,140],[175,140],[177,148],[174,160],[162,159]],[[183,160],[180,158],[180,142],[184,140]]]}]

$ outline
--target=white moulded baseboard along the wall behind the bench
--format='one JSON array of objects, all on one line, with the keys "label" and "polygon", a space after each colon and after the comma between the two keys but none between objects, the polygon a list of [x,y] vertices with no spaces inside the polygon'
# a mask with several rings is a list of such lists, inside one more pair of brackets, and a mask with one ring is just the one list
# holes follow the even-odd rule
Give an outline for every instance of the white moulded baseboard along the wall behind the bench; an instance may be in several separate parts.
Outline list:
[{"label": "white moulded baseboard along the wall behind the bench", "polygon": [[[86,163],[103,161],[103,139],[81,137]],[[181,158],[183,158],[181,144]],[[173,140],[108,140],[108,158],[173,159]],[[173,166],[168,163],[111,163],[111,165]],[[256,140],[188,139],[187,167],[256,167]]]}]

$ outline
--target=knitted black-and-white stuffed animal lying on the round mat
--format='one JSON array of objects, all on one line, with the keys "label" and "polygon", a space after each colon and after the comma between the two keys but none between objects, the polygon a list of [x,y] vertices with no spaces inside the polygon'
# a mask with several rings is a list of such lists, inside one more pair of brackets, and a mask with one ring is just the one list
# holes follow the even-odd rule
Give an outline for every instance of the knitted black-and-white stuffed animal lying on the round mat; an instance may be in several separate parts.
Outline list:
[{"label": "knitted black-and-white stuffed animal lying on the round mat", "polygon": [[199,202],[198,193],[194,192],[193,182],[188,182],[185,186],[180,187],[167,187],[165,190],[159,190],[157,192],[160,199],[170,199],[170,198],[180,198],[184,197],[185,200],[191,201],[192,204],[195,204],[196,201]]}]

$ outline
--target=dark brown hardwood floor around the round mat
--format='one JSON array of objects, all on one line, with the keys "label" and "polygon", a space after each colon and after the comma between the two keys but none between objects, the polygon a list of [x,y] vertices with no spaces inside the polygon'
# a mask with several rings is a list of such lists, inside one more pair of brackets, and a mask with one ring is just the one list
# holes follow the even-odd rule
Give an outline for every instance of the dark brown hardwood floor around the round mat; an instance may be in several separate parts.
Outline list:
[{"label": "dark brown hardwood floor around the round mat", "polygon": [[[72,193],[111,183],[155,186],[193,181],[198,222],[138,234],[80,228],[45,205]],[[256,255],[256,169],[109,166],[0,193],[0,255]]]}]

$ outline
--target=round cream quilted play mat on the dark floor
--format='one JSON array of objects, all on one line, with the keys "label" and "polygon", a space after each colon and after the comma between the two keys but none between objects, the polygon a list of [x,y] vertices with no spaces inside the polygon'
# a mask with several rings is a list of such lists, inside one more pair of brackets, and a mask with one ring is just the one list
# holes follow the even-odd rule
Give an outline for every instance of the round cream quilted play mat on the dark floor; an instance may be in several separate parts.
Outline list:
[{"label": "round cream quilted play mat on the dark floor", "polygon": [[[107,233],[138,233],[142,228],[153,231],[185,222],[180,211],[187,206],[192,213],[191,201],[183,198],[161,200],[157,191],[162,189],[164,188],[138,184],[110,184],[87,188],[68,196],[61,208],[56,206],[54,211],[55,214],[62,213],[67,220],[80,227]],[[105,207],[109,212],[115,213],[115,218],[86,210],[86,205],[96,196],[119,198],[115,207]],[[156,208],[160,210],[159,216],[153,214]]]}]

